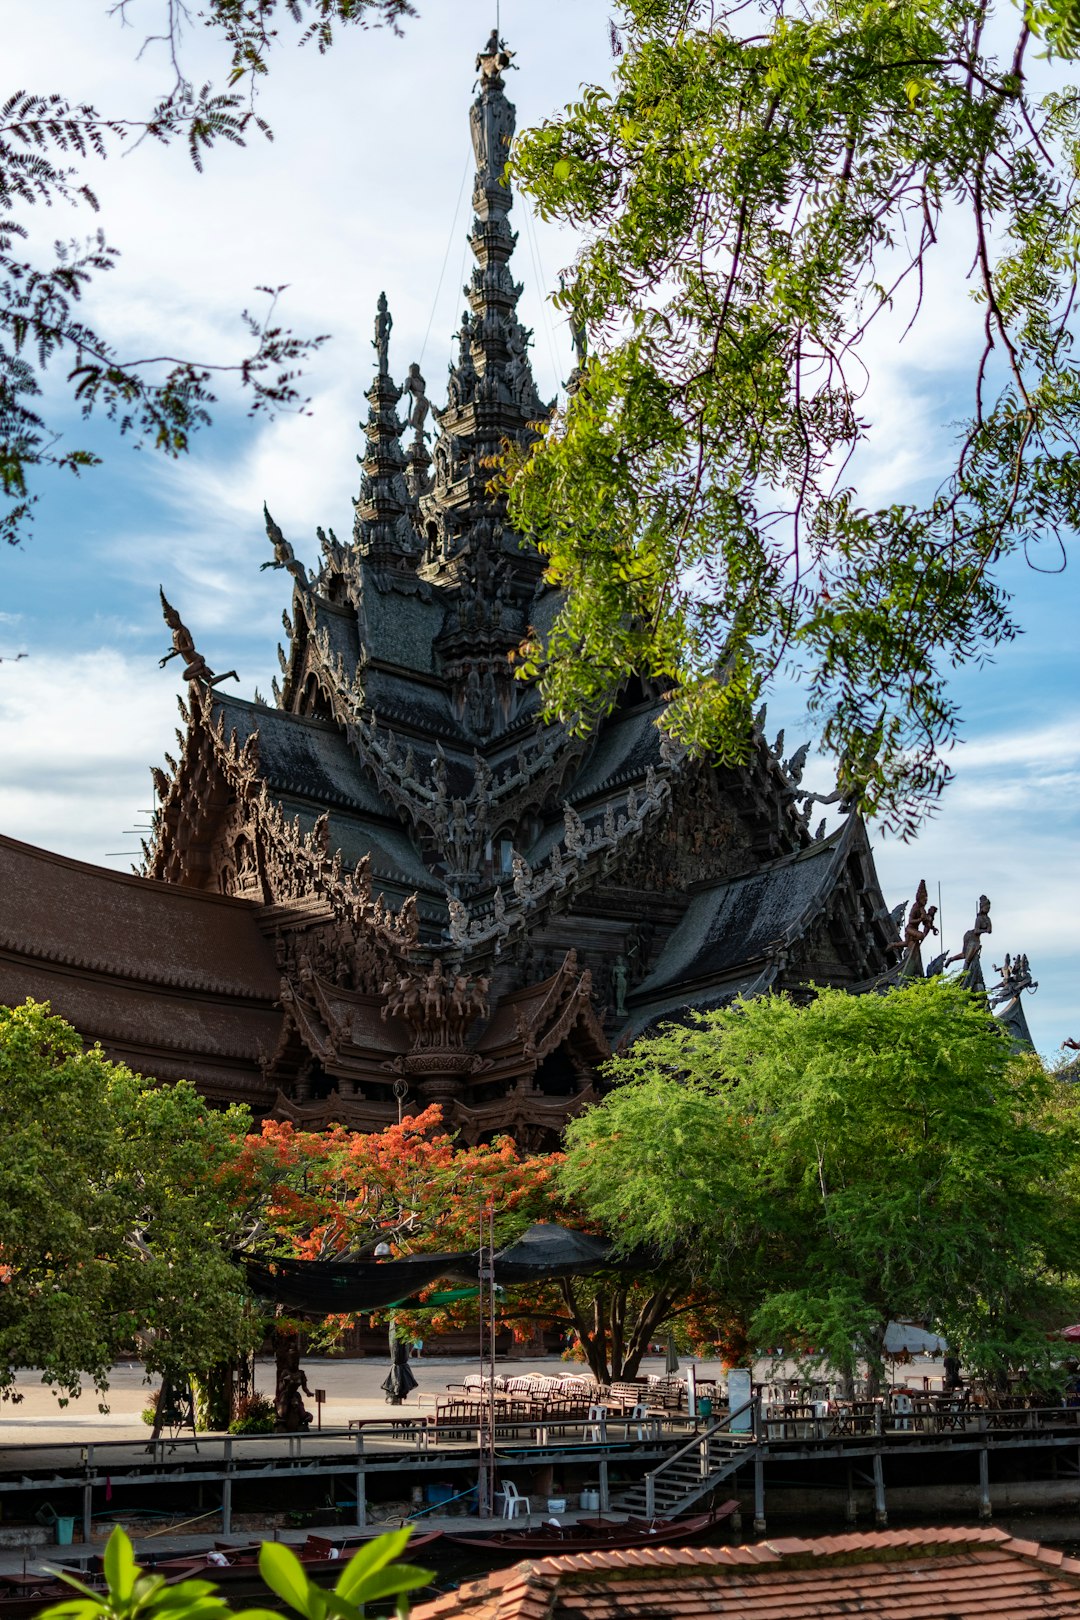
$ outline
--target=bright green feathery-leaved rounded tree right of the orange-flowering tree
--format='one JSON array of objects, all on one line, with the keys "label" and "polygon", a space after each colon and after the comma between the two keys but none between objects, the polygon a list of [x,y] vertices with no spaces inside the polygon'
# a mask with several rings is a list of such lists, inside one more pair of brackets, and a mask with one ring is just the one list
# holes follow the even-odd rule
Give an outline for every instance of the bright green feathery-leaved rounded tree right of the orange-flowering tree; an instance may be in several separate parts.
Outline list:
[{"label": "bright green feathery-leaved rounded tree right of the orange-flowering tree", "polygon": [[972,1367],[1041,1361],[1080,1291],[1077,1110],[942,980],[763,996],[610,1063],[563,1187],[742,1301],[758,1343],[879,1369],[891,1317]]}]

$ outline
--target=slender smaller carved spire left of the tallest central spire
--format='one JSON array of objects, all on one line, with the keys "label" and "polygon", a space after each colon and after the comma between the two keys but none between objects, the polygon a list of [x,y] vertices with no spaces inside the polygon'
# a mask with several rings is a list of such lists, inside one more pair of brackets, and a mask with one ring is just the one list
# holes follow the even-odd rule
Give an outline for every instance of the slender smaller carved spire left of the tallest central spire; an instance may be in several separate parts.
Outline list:
[{"label": "slender smaller carved spire left of the tallest central spire", "polygon": [[379,369],[368,389],[369,403],[364,433],[368,449],[356,460],[364,470],[359,496],[355,502],[356,520],[353,539],[361,557],[369,561],[377,575],[415,575],[419,562],[419,543],[410,522],[410,491],[405,483],[405,452],[402,450],[402,423],[397,403],[402,389],[390,376],[389,345],[393,319],[387,308],[387,295],[379,293],[376,335],[372,348]]}]

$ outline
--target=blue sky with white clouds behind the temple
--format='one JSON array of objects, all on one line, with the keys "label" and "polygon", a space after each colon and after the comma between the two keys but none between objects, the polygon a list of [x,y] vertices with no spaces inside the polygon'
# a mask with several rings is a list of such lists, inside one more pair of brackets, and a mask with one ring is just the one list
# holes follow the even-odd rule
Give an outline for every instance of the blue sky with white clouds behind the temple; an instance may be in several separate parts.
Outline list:
[{"label": "blue sky with white clouds behind the temple", "polygon": [[[123,29],[105,0],[13,8],[8,89],[62,89],[104,112],[144,112],[168,79],[154,50],[136,60],[162,11],[160,0],[136,0]],[[473,57],[494,6],[421,0],[421,11],[405,39],[355,32],[325,58],[283,49],[262,92],[272,146],[222,151],[201,177],[180,149],[141,146],[96,165],[97,220],[42,219],[60,237],[100,224],[121,249],[87,314],[125,355],[159,353],[165,342],[178,353],[238,356],[240,311],[267,282],[288,284],[288,324],[334,340],[308,371],[311,415],[251,421],[223,395],[214,429],[180,463],[134,452],[104,424],[70,424],[105,455],[104,468],[79,481],[45,480],[32,538],[0,556],[0,654],[29,653],[0,664],[0,831],[112,867],[128,863],[128,847],[138,854],[126,829],[146,820],[147,765],[175,752],[178,719],[176,666],[157,667],[168,648],[159,583],[209,663],[235,666],[243,693],[257,685],[269,695],[288,595],[282,575],[259,572],[269,554],[262,501],[308,559],[317,523],[350,531],[382,288],[395,322],[393,373],[419,358],[429,394],[442,397],[468,267],[461,178]],[[521,68],[512,76],[520,125],[573,99],[581,83],[610,76],[609,11],[607,0],[502,0],[502,31]],[[188,40],[188,70],[199,81],[225,78],[223,53],[199,31]],[[570,342],[541,288],[554,285],[575,241],[531,219],[521,199],[513,222],[523,318],[536,329],[533,363],[551,397],[570,368]],[[910,499],[942,463],[978,319],[965,262],[946,243],[916,330],[904,343],[895,327],[873,339],[876,434],[860,462],[865,501]],[[879,841],[878,852],[889,904],[910,899],[923,876],[931,894],[941,883],[952,949],[978,894],[991,896],[986,954],[1031,957],[1040,991],[1027,1011],[1051,1058],[1065,1035],[1080,1037],[1074,582],[1075,572],[1009,565],[1027,633],[994,663],[957,674],[965,737],[957,779],[915,844]],[[798,706],[787,692],[771,710],[789,740],[810,735]]]}]

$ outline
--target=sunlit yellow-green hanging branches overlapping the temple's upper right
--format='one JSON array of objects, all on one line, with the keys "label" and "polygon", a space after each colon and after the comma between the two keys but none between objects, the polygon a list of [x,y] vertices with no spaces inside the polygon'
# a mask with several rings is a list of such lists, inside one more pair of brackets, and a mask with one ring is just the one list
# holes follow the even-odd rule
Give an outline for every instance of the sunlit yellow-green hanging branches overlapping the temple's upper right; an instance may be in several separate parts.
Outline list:
[{"label": "sunlit yellow-green hanging branches overlapping the temple's upper right", "polygon": [[[1056,565],[1080,518],[1080,92],[1036,99],[1018,15],[991,55],[1014,15],[988,0],[622,16],[614,87],[513,151],[588,237],[557,301],[594,345],[512,470],[568,593],[523,674],[581,726],[631,671],[661,679],[665,724],[737,761],[793,672],[839,786],[910,833],[949,778],[949,672],[1017,633],[999,564],[1038,536]],[[938,491],[874,509],[848,470],[866,337],[918,321],[942,254],[984,313],[970,411]]]}]

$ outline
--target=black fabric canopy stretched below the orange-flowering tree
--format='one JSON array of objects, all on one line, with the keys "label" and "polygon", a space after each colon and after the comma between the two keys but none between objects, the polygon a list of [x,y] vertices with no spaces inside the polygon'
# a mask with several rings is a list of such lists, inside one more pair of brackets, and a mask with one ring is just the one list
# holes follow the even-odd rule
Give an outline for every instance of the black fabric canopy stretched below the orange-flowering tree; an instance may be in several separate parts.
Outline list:
[{"label": "black fabric canopy stretched below the orange-flowering tree", "polygon": [[[495,1252],[495,1281],[539,1283],[585,1277],[610,1265],[610,1244],[585,1231],[538,1221]],[[479,1251],[410,1254],[393,1260],[251,1260],[248,1286],[261,1299],[290,1311],[330,1315],[335,1311],[381,1311],[411,1299],[440,1277],[476,1281]]]}]

